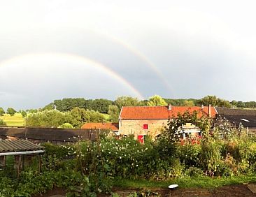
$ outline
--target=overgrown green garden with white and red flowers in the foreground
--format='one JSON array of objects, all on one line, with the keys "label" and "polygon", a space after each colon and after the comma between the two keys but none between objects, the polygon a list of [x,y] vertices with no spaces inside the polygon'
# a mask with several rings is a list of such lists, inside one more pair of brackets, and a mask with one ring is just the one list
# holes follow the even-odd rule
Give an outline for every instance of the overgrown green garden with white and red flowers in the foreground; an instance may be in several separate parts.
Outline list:
[{"label": "overgrown green garden with white and red flowers in the foreground", "polygon": [[[198,126],[201,136],[180,140],[178,128],[185,122]],[[213,125],[194,113],[170,120],[157,140],[146,138],[144,144],[134,136],[115,139],[103,133],[95,141],[43,146],[41,172],[37,158],[19,180],[15,171],[0,171],[0,196],[33,196],[55,188],[64,189],[66,196],[118,196],[113,187],[150,189],[177,183],[181,188],[214,188],[256,180],[255,136],[225,119]]]}]

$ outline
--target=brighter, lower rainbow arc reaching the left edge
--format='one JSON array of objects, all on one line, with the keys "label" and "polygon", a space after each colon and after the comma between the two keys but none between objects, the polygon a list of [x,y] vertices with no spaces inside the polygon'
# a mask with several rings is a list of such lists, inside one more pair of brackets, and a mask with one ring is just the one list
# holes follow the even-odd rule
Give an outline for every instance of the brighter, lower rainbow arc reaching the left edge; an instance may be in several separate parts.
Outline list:
[{"label": "brighter, lower rainbow arc reaching the left edge", "polygon": [[71,54],[71,53],[64,53],[64,52],[45,52],[45,53],[29,53],[29,54],[22,54],[20,56],[16,56],[10,59],[6,59],[3,61],[0,61],[0,66],[8,66],[10,64],[17,64],[19,61],[24,61],[25,59],[39,59],[42,57],[54,57],[54,58],[62,58],[67,59],[69,61],[73,62],[82,62],[83,64],[94,66],[94,68],[97,68],[97,70],[106,73],[107,75],[111,76],[111,78],[118,80],[120,84],[122,84],[124,87],[129,89],[131,92],[133,92],[134,95],[138,99],[144,99],[141,92],[138,92],[138,90],[131,85],[125,78],[122,78],[122,76],[118,75],[118,73],[115,73],[115,71],[112,71],[111,68],[108,68],[104,64],[99,63],[98,61],[89,59],[87,57],[79,56],[77,54]]}]

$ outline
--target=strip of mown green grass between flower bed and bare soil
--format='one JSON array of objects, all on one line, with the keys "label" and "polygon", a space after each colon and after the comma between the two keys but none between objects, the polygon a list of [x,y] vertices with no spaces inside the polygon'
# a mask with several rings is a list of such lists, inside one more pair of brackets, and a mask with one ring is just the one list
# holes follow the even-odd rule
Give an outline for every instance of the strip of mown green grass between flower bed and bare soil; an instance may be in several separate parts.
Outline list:
[{"label": "strip of mown green grass between flower bed and bare soil", "polygon": [[244,184],[256,182],[255,176],[237,176],[237,177],[183,177],[165,181],[154,180],[128,180],[124,178],[115,178],[115,187],[122,188],[167,188],[170,184],[178,184],[180,188],[206,188],[213,189],[225,185]]}]

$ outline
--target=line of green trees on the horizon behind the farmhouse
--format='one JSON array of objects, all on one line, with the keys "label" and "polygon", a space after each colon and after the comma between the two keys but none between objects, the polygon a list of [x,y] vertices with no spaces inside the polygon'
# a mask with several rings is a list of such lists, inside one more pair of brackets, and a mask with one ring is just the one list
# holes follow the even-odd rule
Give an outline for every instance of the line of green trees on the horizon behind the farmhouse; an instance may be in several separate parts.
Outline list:
[{"label": "line of green trees on the horizon behind the farmhouse", "polygon": [[[115,101],[108,99],[65,98],[57,99],[43,108],[19,110],[26,117],[27,126],[54,126],[60,128],[79,128],[85,122],[118,122],[122,106],[167,105],[201,106],[213,105],[227,108],[256,108],[255,101],[227,101],[217,96],[205,96],[202,99],[164,99],[151,96],[139,101],[131,96],[120,96]],[[6,111],[0,108],[0,116],[15,115],[14,108]]]}]

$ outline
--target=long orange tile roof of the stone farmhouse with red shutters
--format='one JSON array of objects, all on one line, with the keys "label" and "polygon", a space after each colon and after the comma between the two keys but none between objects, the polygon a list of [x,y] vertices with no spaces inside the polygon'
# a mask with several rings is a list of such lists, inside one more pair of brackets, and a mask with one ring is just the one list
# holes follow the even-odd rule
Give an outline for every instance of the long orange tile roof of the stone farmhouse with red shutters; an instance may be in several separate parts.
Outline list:
[{"label": "long orange tile roof of the stone farmhouse with red shutters", "polygon": [[[177,117],[178,114],[183,114],[186,111],[198,112],[198,116],[203,114],[208,116],[209,107],[187,107],[187,106],[171,106],[171,110],[168,106],[124,106],[120,112],[121,119],[169,119],[169,117]],[[211,107],[211,117],[215,117],[217,114],[215,108]]]}]

